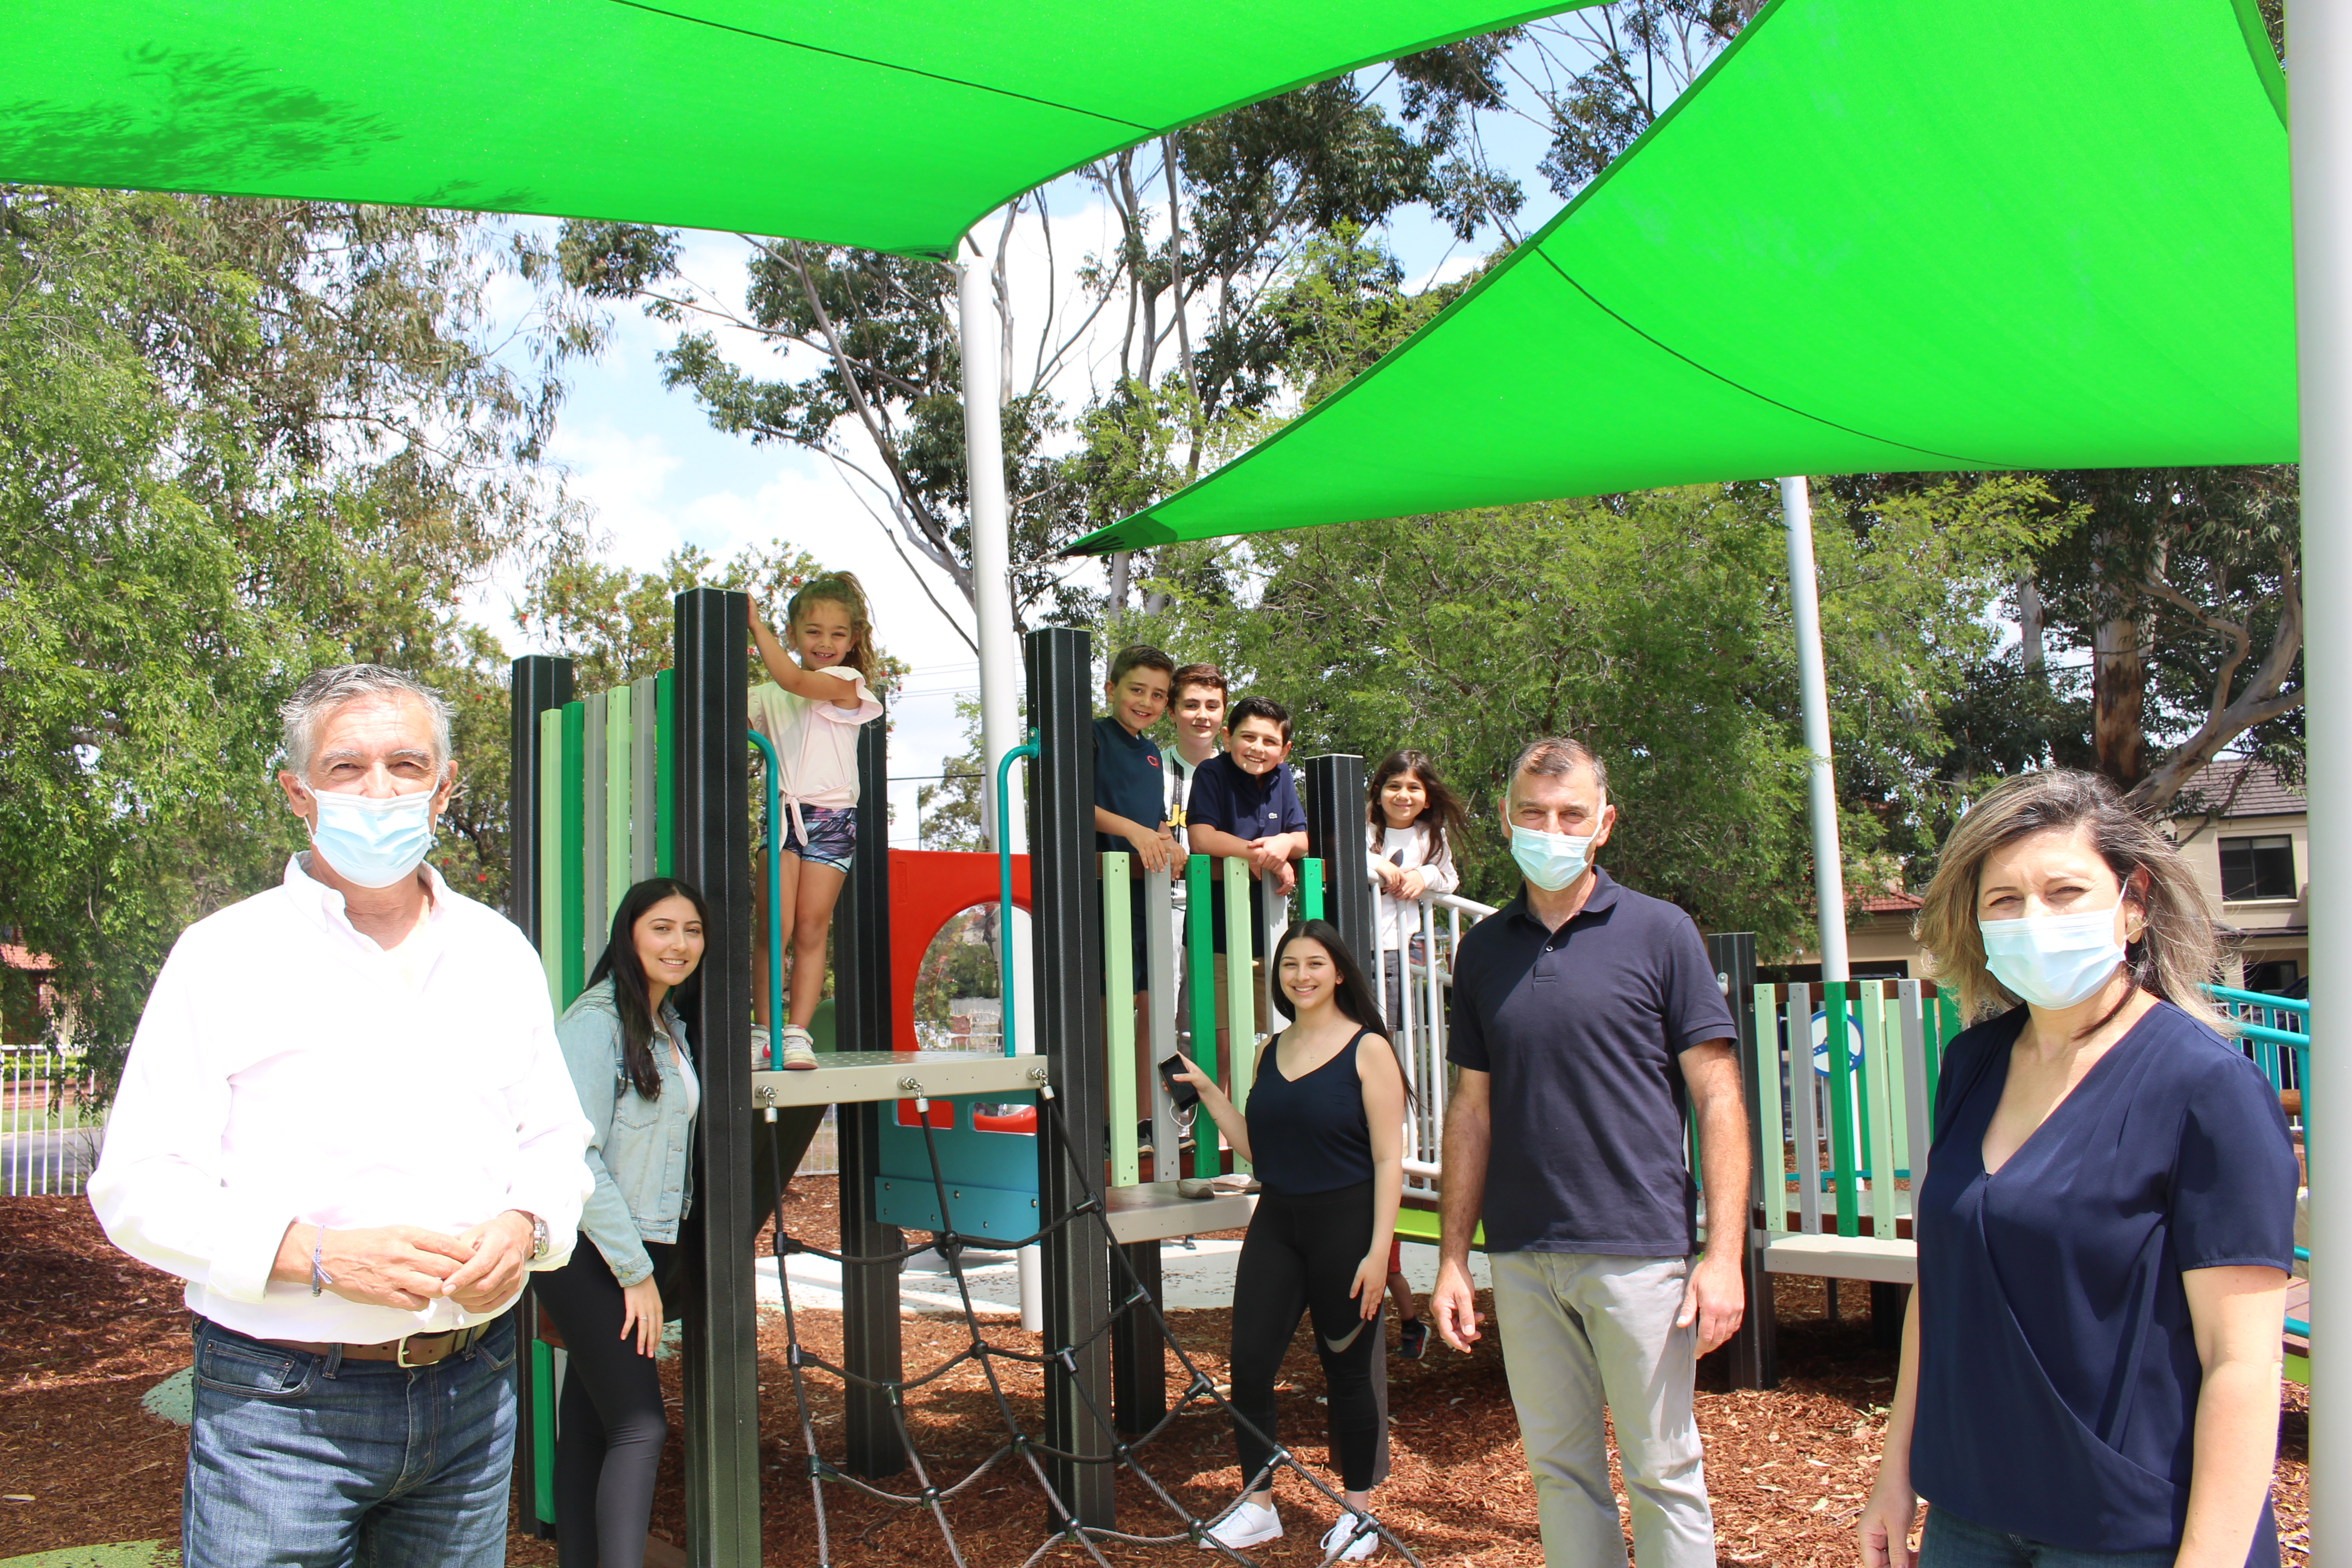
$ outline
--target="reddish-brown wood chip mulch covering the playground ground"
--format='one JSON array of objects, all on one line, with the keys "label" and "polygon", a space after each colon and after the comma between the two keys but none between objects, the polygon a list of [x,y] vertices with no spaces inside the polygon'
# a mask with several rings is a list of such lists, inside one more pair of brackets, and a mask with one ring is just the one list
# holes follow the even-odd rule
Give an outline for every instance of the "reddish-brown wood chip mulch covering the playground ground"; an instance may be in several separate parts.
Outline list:
[{"label": "reddish-brown wood chip mulch covering the playground ground", "polygon": [[[833,1182],[802,1180],[788,1199],[786,1227],[833,1244]],[[767,1265],[774,1267],[774,1265]],[[1708,1490],[1722,1563],[1853,1563],[1853,1516],[1877,1460],[1884,1406],[1893,1392],[1893,1352],[1875,1342],[1867,1288],[1844,1286],[1839,1319],[1828,1319],[1823,1281],[1780,1276],[1780,1387],[1726,1387],[1722,1356],[1700,1363],[1698,1422],[1708,1443]],[[188,1363],[188,1316],[179,1281],[115,1253],[80,1199],[9,1199],[0,1204],[0,1293],[12,1305],[0,1335],[0,1559],[54,1547],[179,1537],[179,1472],[186,1432],[148,1415],[139,1396]],[[1484,1302],[1482,1302],[1484,1305]],[[797,1314],[802,1342],[840,1359],[840,1316]],[[1211,1378],[1225,1378],[1228,1314],[1181,1312],[1171,1328]],[[1395,1328],[1390,1328],[1390,1335]],[[1007,1349],[1040,1352],[1037,1335],[990,1324]],[[969,1347],[960,1319],[903,1319],[906,1366],[915,1375]],[[1042,1378],[1033,1366],[997,1361],[1004,1396],[1028,1432],[1042,1422]],[[1519,1460],[1519,1432],[1489,1335],[1463,1356],[1442,1345],[1425,1361],[1390,1356],[1395,1474],[1376,1495],[1383,1521],[1423,1563],[1479,1568],[1536,1566],[1536,1500]],[[680,1366],[663,1366],[670,1425],[682,1432]],[[807,1375],[818,1448],[842,1458],[840,1382]],[[760,1469],[767,1481],[762,1528],[767,1561],[814,1563],[816,1519],[793,1410],[783,1316],[760,1321]],[[1284,1363],[1279,1420],[1284,1439],[1319,1474],[1324,1429],[1322,1375],[1308,1340]],[[1169,1359],[1171,1401],[1183,1373]],[[908,1396],[917,1453],[941,1488],[969,1476],[1004,1439],[1004,1420],[976,1363],[967,1361]],[[2277,1509],[2300,1568],[2307,1516],[2307,1392],[2288,1385],[2281,1401]],[[1240,1483],[1232,1439],[1214,1406],[1195,1401],[1141,1453],[1143,1467],[1195,1514],[1230,1500]],[[913,1490],[908,1474],[884,1481]],[[1138,1533],[1174,1530],[1143,1481],[1122,1474],[1120,1521]],[[1270,1566],[1305,1568],[1329,1523],[1329,1505],[1296,1476],[1277,1483],[1289,1535],[1256,1552]],[[1018,1460],[1000,1458],[948,1505],[948,1519],[971,1568],[1016,1568],[1044,1542],[1044,1495]],[[946,1544],[924,1509],[877,1502],[849,1486],[826,1488],[830,1561],[842,1568],[922,1563],[950,1568]],[[663,1455],[654,1533],[684,1537],[682,1439]],[[1202,1563],[1188,1542],[1112,1542],[1115,1563]],[[550,1542],[510,1537],[508,1561],[553,1563]],[[1049,1563],[1082,1563],[1056,1544]],[[1390,1559],[1395,1561],[1395,1559]]]}]

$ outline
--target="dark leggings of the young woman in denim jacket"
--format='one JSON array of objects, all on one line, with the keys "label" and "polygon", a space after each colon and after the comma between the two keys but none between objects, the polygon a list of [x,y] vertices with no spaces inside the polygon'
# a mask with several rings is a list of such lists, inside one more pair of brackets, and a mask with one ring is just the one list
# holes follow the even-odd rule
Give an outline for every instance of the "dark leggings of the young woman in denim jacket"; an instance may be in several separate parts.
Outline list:
[{"label": "dark leggings of the young woman in denim jacket", "polygon": [[[644,1244],[661,1276],[670,1246]],[[621,1338],[621,1281],[588,1237],[572,1262],[532,1281],[564,1335],[564,1399],[555,1410],[555,1561],[562,1568],[644,1568],[654,1469],[670,1422],[654,1359]]]}]

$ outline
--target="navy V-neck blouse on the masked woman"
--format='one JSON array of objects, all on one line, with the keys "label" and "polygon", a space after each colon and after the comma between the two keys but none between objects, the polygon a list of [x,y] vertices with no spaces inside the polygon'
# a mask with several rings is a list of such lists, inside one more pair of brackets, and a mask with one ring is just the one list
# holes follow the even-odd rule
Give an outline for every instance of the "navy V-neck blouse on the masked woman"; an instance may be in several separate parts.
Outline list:
[{"label": "navy V-neck blouse on the masked woman", "polygon": [[[2159,1001],[1985,1175],[2025,1020],[1983,1023],[1943,1060],[1917,1194],[1912,1483],[2027,1540],[2171,1549],[2204,1378],[2180,1272],[2291,1267],[2286,1117],[2251,1060]],[[2246,1561],[2279,1561],[2267,1502]]]}]

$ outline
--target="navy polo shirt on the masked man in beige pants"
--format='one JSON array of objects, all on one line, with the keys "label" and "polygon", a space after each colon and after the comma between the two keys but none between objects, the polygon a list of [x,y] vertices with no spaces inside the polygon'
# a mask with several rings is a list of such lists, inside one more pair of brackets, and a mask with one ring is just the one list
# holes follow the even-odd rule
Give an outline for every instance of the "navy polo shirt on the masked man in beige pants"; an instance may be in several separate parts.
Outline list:
[{"label": "navy polo shirt on the masked man in beige pants", "polygon": [[1454,957],[1446,1060],[1494,1074],[1486,1251],[1686,1258],[1682,1053],[1738,1030],[1691,917],[1592,875],[1559,931],[1522,891]]}]

